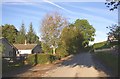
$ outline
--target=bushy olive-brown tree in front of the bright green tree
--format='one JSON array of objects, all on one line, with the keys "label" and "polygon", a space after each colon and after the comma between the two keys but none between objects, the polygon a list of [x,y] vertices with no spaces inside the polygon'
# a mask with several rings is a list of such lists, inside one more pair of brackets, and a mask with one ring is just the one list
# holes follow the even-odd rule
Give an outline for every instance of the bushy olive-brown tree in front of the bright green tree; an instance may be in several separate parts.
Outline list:
[{"label": "bushy olive-brown tree in front of the bright green tree", "polygon": [[76,54],[83,49],[84,38],[80,29],[76,27],[65,27],[61,33],[61,46],[69,54]]}]

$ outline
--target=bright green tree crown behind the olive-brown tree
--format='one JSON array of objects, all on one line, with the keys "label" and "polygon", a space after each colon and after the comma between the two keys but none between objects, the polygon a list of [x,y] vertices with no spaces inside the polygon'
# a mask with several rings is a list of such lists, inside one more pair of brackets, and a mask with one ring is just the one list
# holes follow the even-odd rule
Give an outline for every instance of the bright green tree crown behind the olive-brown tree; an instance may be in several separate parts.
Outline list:
[{"label": "bright green tree crown behind the olive-brown tree", "polygon": [[79,28],[84,36],[83,45],[88,46],[90,41],[94,41],[95,29],[86,19],[77,19],[74,26]]}]

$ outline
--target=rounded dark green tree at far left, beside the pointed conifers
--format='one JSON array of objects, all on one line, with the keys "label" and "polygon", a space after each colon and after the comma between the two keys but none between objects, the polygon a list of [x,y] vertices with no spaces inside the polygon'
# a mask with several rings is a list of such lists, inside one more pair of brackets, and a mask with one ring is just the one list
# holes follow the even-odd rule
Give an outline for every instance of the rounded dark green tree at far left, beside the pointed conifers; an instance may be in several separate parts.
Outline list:
[{"label": "rounded dark green tree at far left, beside the pointed conifers", "polygon": [[17,33],[18,31],[14,25],[10,24],[2,25],[2,36],[4,38],[7,38],[10,43],[15,43]]}]

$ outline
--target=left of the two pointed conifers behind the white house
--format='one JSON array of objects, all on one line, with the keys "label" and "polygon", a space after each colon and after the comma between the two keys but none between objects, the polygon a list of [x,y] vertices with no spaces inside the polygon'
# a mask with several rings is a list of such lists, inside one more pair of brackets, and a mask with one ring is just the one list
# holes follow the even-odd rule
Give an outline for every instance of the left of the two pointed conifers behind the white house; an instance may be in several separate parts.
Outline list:
[{"label": "left of the two pointed conifers behind the white house", "polygon": [[25,30],[24,23],[22,23],[20,27],[20,31],[17,33],[16,43],[24,44],[25,40],[26,40],[26,30]]}]

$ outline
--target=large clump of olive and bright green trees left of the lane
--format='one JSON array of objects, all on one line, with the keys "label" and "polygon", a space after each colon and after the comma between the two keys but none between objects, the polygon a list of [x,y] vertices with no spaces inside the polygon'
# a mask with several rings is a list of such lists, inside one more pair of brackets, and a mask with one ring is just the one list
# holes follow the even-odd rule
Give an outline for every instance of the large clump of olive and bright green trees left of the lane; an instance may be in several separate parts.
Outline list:
[{"label": "large clump of olive and bright green trees left of the lane", "polygon": [[[90,50],[89,41],[94,40],[95,29],[87,20],[77,19],[74,24],[64,27],[60,35],[57,52],[60,55],[76,54]],[[64,53],[63,53],[64,52]]]}]

